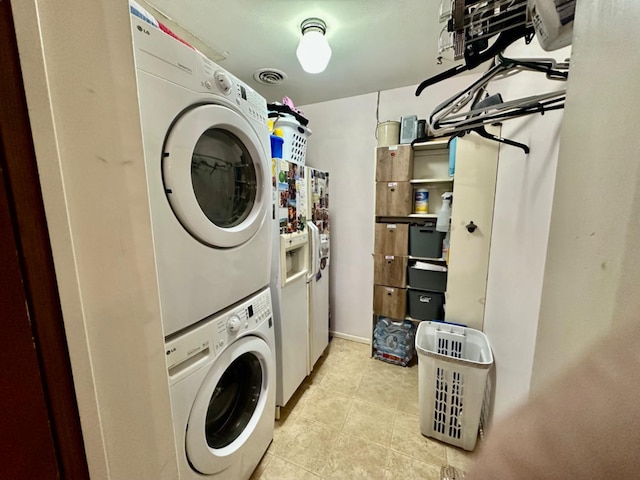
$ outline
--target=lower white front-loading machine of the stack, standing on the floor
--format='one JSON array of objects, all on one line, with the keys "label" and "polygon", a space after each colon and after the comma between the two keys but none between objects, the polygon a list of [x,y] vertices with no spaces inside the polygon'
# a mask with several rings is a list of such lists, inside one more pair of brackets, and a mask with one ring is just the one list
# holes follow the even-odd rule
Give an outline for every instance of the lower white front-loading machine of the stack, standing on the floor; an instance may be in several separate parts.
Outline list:
[{"label": "lower white front-loading machine of the stack, standing on the floor", "polygon": [[269,289],[166,343],[181,479],[246,480],[273,439]]}]

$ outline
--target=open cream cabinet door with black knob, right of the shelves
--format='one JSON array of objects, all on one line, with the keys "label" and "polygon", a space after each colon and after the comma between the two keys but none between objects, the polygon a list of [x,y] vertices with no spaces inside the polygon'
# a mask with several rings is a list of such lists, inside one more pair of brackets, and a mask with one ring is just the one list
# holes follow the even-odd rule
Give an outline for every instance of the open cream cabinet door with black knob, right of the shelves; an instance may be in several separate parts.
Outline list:
[{"label": "open cream cabinet door with black knob, right of the shelves", "polygon": [[[499,135],[499,129],[491,129]],[[451,212],[446,319],[482,330],[498,170],[498,143],[458,138]],[[471,222],[475,231],[469,232]]]}]

